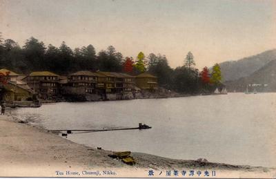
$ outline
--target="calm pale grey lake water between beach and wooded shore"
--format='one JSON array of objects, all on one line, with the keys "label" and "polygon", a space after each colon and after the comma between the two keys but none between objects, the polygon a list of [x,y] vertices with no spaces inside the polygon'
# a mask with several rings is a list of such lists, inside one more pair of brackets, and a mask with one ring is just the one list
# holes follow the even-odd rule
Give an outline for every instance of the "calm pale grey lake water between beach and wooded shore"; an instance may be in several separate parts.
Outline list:
[{"label": "calm pale grey lake water between beach and wooded shore", "polygon": [[276,93],[109,102],[61,102],[13,109],[46,129],[152,129],[73,133],[68,139],[112,151],[276,167]]}]

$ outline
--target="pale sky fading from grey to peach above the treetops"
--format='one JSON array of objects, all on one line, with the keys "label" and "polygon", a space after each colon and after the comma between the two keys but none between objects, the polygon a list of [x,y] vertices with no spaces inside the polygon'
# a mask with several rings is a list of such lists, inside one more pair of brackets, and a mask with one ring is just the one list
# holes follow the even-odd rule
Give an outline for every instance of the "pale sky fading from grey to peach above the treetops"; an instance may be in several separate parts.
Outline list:
[{"label": "pale sky fading from grey to peach above the treetops", "polygon": [[274,0],[0,0],[0,32],[23,46],[112,45],[124,57],[166,55],[173,68],[188,51],[197,68],[276,48]]}]

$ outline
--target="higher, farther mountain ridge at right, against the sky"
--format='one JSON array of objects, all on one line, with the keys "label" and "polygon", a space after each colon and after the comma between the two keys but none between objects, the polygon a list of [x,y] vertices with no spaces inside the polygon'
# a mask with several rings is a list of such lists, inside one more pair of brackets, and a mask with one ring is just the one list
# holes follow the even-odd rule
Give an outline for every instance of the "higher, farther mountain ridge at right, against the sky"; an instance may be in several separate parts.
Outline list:
[{"label": "higher, farther mountain ridge at right, against the sky", "polygon": [[226,82],[241,77],[248,77],[273,59],[276,59],[276,49],[267,50],[264,53],[239,59],[237,61],[222,62],[219,66],[221,67],[223,81]]}]

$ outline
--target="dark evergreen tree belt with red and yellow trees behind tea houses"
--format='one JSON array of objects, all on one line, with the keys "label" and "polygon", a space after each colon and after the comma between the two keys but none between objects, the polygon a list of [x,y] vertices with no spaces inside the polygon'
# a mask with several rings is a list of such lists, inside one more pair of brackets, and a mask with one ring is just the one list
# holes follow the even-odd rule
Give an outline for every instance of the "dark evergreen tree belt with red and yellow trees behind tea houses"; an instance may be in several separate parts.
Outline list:
[{"label": "dark evergreen tree belt with red and yellow trees behind tea houses", "polygon": [[195,57],[188,52],[183,66],[171,68],[166,55],[140,52],[137,57],[124,57],[115,47],[96,52],[90,44],[71,49],[62,42],[59,47],[30,37],[21,47],[12,39],[0,39],[0,68],[8,68],[28,75],[33,71],[48,70],[59,75],[68,75],[78,70],[123,72],[138,75],[145,71],[157,76],[159,86],[177,93],[213,93],[221,85],[218,64],[210,72],[207,67],[195,68]]}]

